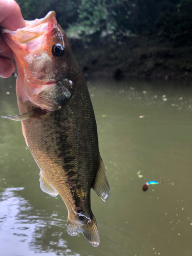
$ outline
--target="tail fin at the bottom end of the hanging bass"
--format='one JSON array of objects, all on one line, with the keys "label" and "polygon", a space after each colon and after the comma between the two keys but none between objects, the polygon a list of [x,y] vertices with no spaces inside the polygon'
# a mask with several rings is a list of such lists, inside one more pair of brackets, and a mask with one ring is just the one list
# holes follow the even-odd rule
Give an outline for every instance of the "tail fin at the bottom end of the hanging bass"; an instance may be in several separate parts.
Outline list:
[{"label": "tail fin at the bottom end of the hanging bass", "polygon": [[100,243],[99,231],[94,216],[89,223],[71,222],[68,217],[67,230],[68,234],[72,237],[76,236],[80,232],[83,233],[84,237],[94,247],[97,247]]}]

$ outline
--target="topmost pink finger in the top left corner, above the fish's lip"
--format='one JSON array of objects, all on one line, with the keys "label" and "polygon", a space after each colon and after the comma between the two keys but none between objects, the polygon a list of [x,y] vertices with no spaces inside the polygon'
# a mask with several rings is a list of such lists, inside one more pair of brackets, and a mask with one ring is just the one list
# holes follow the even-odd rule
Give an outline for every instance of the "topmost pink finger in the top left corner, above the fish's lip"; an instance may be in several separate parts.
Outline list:
[{"label": "topmost pink finger in the top left corner, above the fish's lip", "polygon": [[25,20],[20,12],[18,4],[13,0],[0,1],[0,24],[9,30],[17,30],[25,27]]}]

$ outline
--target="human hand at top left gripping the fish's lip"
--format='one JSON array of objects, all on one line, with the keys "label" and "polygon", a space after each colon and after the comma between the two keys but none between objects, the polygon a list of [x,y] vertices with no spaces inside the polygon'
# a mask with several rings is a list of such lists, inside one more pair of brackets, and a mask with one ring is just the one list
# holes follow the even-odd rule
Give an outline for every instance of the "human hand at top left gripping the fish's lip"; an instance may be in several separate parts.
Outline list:
[{"label": "human hand at top left gripping the fish's lip", "polygon": [[[12,31],[25,27],[25,21],[14,0],[0,0],[0,27]],[[0,76],[7,78],[15,70],[13,52],[1,36],[0,29]]]}]

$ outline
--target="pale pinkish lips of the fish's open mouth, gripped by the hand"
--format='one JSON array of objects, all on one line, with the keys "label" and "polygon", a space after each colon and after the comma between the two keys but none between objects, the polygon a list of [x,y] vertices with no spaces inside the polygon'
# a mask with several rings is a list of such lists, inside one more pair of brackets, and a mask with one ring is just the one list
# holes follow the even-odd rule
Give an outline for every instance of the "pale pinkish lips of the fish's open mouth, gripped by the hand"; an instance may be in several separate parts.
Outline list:
[{"label": "pale pinkish lips of the fish's open mouth, gripped by the hand", "polygon": [[56,23],[55,12],[50,11],[41,19],[25,20],[25,23],[25,28],[17,29],[16,31],[1,29],[2,34],[9,33],[14,41],[16,40],[19,44],[27,44],[37,39],[40,35],[45,34],[50,23]]}]

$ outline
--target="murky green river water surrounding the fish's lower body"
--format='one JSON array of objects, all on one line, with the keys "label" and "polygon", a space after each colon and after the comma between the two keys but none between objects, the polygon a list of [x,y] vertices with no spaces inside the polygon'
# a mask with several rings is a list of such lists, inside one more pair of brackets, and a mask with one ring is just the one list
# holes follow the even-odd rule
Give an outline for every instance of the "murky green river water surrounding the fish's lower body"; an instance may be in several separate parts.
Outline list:
[{"label": "murky green river water surrounding the fish's lower body", "polygon": [[[192,255],[192,84],[89,80],[111,195],[92,191],[100,245],[66,231],[60,196],[39,187],[20,122],[0,120],[1,256]],[[18,114],[15,78],[0,79],[0,115]],[[142,186],[150,180],[162,181]]]}]

